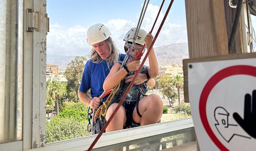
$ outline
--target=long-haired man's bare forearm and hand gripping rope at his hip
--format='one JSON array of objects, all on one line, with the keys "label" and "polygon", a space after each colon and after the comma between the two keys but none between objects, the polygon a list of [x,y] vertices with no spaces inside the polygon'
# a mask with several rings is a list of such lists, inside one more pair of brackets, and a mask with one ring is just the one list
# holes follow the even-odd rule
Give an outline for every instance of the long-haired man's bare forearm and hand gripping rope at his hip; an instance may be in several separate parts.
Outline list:
[{"label": "long-haired man's bare forearm and hand gripping rope at his hip", "polygon": [[98,108],[101,104],[101,99],[94,97],[93,99],[86,92],[78,91],[78,98],[83,104],[89,105],[92,109]]}]

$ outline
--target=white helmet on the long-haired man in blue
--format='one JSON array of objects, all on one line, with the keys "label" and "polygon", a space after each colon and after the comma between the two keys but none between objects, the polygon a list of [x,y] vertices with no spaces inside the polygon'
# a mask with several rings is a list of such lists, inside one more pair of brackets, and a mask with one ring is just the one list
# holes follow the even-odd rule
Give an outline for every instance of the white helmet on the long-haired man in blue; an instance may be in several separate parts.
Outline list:
[{"label": "white helmet on the long-haired man in blue", "polygon": [[108,39],[110,35],[109,29],[104,24],[94,24],[87,30],[87,42],[93,45]]}]

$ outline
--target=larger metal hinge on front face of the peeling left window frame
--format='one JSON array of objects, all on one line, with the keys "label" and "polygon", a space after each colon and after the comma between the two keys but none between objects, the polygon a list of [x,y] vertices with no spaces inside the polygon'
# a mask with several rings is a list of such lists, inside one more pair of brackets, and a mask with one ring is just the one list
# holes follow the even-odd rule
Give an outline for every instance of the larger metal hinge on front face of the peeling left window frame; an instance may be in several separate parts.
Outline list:
[{"label": "larger metal hinge on front face of the peeling left window frame", "polygon": [[27,32],[33,32],[33,29],[38,28],[38,12],[33,12],[32,9],[27,9]]}]

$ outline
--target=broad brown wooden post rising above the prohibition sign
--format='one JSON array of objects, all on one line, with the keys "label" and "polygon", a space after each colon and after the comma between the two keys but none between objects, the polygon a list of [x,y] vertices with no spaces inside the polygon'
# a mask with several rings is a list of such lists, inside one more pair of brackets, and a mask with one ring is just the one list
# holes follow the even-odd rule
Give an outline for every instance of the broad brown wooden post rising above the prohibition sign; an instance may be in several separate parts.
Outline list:
[{"label": "broad brown wooden post rising above the prohibition sign", "polygon": [[186,0],[189,58],[226,55],[223,0]]}]

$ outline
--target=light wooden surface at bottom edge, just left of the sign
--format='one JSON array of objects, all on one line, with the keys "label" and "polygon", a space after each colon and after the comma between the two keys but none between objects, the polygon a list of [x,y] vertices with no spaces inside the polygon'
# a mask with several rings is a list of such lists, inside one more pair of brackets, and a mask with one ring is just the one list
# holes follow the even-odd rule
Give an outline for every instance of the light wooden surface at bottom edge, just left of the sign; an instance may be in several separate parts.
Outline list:
[{"label": "light wooden surface at bottom edge, just left of the sign", "polygon": [[161,151],[196,151],[196,141],[188,142],[186,144],[178,145],[175,147],[167,148]]}]

